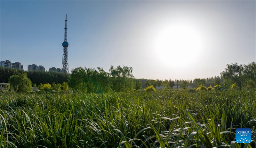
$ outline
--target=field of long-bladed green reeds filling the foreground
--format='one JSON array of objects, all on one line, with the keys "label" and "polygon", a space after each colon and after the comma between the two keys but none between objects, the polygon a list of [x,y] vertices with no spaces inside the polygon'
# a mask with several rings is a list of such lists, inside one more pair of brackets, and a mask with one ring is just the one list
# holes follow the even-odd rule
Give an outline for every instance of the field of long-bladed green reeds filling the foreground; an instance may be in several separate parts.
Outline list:
[{"label": "field of long-bladed green reeds filling the foreground", "polygon": [[[2,147],[256,147],[256,92],[1,93]],[[252,142],[237,144],[236,128]]]}]

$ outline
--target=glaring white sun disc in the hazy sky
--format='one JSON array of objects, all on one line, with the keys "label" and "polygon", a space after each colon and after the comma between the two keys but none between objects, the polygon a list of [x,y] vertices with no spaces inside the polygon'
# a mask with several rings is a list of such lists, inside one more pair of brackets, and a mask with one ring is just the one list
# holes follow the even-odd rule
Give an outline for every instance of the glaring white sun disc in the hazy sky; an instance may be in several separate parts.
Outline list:
[{"label": "glaring white sun disc in the hazy sky", "polygon": [[188,65],[202,52],[202,38],[189,26],[170,26],[155,37],[157,59],[165,63]]}]

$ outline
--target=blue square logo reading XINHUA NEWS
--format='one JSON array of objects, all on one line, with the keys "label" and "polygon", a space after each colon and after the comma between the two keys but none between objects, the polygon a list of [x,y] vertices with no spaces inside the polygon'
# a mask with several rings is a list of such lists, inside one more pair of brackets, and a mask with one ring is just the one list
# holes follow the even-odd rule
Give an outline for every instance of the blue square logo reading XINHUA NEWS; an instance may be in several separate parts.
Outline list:
[{"label": "blue square logo reading XINHUA NEWS", "polygon": [[236,142],[237,143],[250,143],[251,142],[251,129],[250,128],[237,128],[236,129]]}]

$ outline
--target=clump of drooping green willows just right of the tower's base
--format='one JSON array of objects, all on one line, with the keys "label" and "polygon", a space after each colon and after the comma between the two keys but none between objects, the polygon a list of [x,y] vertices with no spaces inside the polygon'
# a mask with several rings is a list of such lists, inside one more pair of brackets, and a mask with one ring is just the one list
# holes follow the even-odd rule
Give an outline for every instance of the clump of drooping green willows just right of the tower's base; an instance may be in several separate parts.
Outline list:
[{"label": "clump of drooping green willows just right of the tower's base", "polygon": [[97,70],[86,67],[75,68],[69,75],[68,86],[87,93],[133,90],[132,67],[111,66],[109,72],[99,67]]}]

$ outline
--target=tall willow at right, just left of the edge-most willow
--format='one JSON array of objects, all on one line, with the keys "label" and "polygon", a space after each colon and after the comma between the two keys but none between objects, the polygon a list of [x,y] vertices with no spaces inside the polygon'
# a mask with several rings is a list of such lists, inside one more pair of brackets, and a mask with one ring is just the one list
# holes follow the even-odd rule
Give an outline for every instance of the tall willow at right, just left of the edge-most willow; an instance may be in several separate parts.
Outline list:
[{"label": "tall willow at right, just left of the edge-most willow", "polygon": [[220,73],[223,77],[224,81],[227,84],[234,84],[238,86],[240,90],[242,90],[242,86],[244,85],[244,66],[235,64],[228,64],[225,71]]}]

